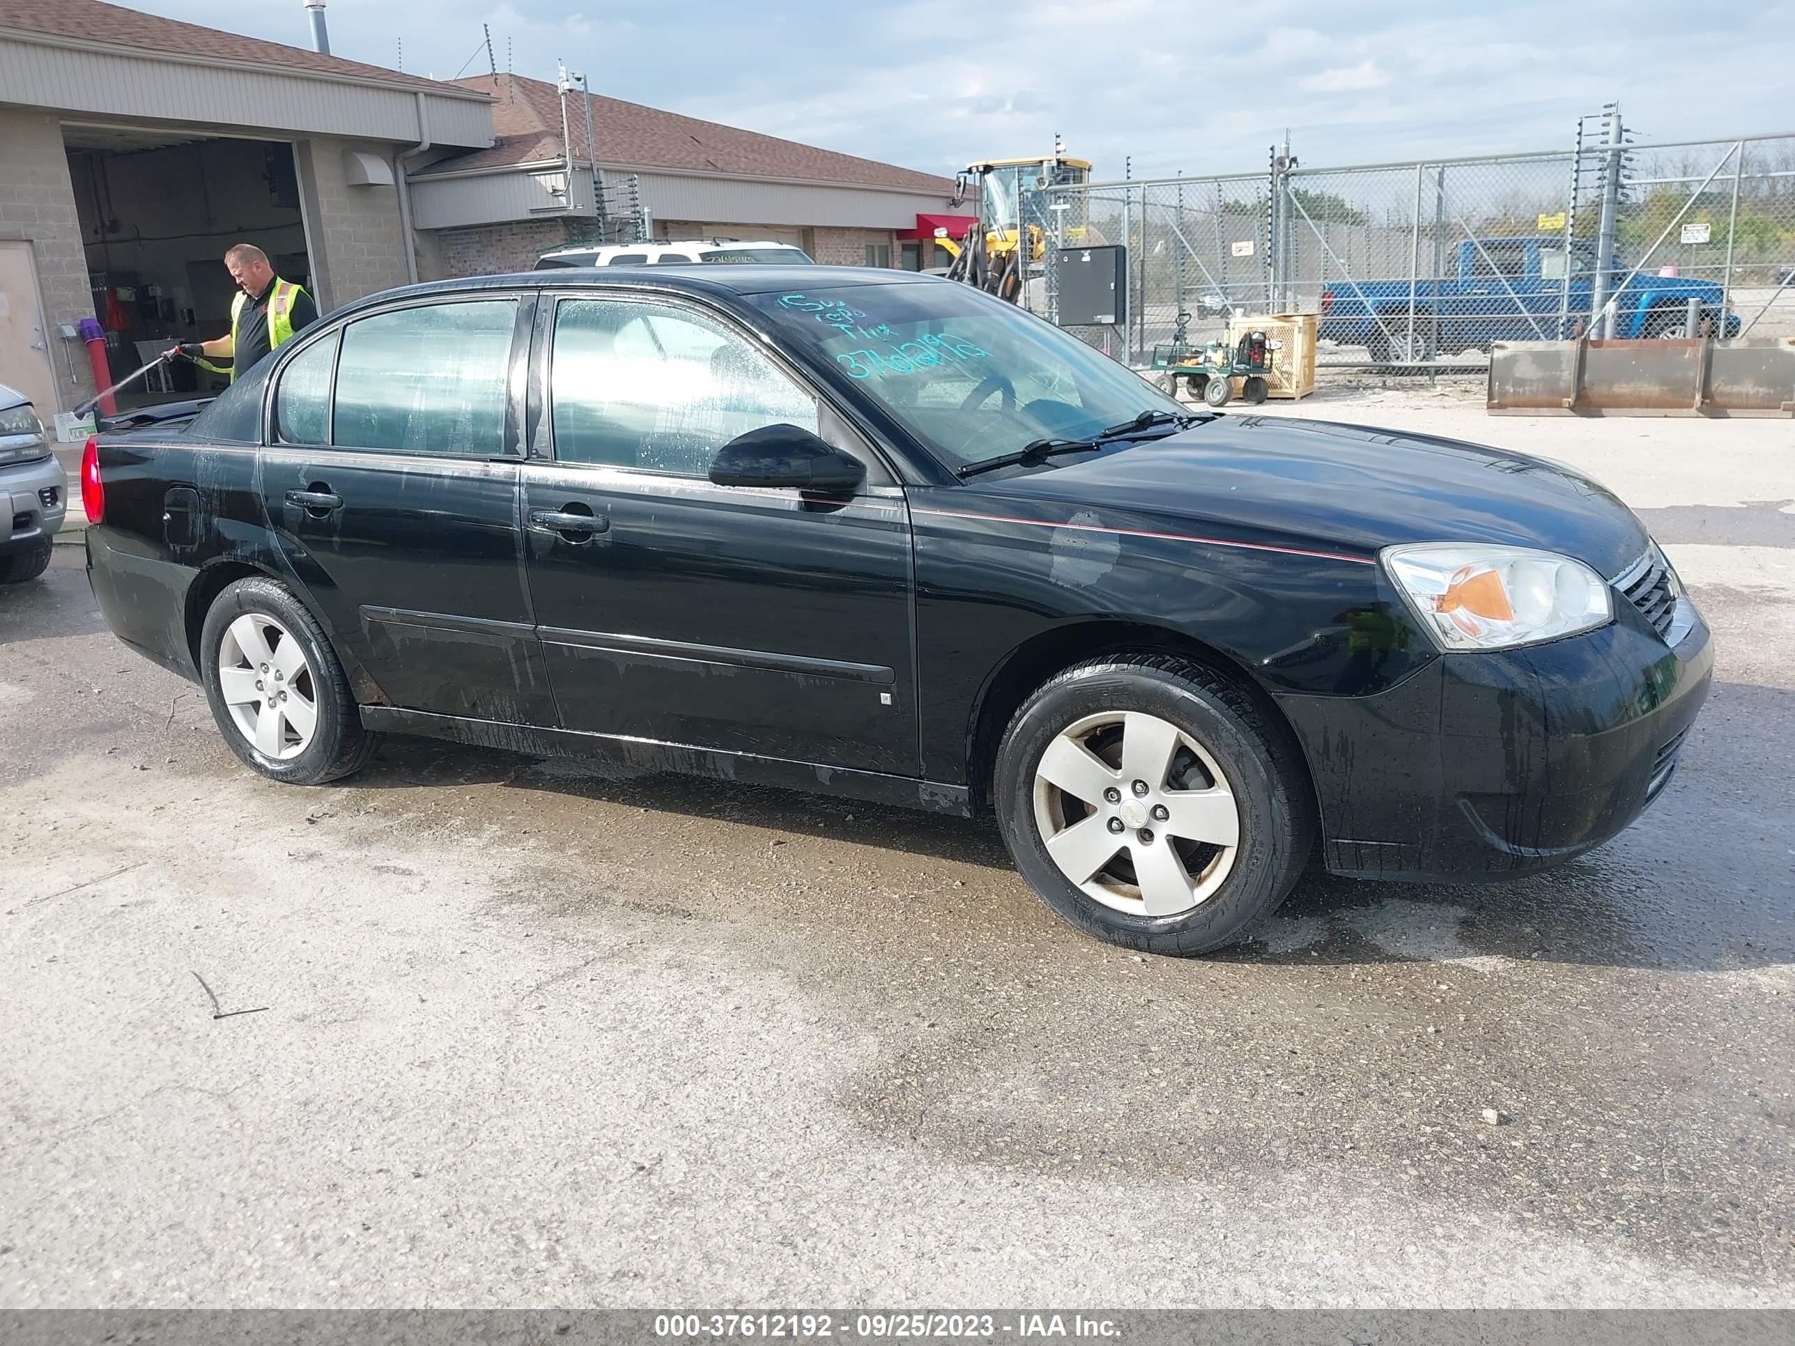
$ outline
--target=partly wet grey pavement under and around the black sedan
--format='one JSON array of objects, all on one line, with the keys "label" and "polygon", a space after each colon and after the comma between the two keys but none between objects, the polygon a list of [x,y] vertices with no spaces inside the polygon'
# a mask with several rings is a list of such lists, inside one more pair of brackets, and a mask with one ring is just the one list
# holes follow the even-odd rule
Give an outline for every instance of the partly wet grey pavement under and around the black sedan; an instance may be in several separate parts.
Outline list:
[{"label": "partly wet grey pavement under and around the black sedan", "polygon": [[1192,962],[984,824],[407,739],[266,782],[57,547],[0,589],[0,1305],[1795,1303],[1786,422],[1334,411],[1411,413],[1599,459],[1712,700],[1596,854],[1310,876]]}]

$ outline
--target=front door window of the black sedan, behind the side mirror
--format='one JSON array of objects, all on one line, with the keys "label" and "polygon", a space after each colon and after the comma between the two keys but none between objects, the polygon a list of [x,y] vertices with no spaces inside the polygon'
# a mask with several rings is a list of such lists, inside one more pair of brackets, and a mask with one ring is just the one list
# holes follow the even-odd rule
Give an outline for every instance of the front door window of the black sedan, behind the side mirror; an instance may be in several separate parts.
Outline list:
[{"label": "front door window of the black sedan, behind the side mirror", "polygon": [[763,425],[817,433],[817,402],[747,341],[668,303],[562,300],[549,364],[555,458],[702,477]]}]

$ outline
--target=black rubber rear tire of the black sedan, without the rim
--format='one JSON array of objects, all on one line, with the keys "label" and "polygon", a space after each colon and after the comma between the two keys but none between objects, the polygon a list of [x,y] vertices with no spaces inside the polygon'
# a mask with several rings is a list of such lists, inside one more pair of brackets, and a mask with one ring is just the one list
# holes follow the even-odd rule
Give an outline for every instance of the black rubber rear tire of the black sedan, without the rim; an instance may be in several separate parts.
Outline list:
[{"label": "black rubber rear tire of the black sedan, without the rim", "polygon": [[[294,757],[267,757],[244,738],[224,704],[219,678],[219,646],[226,628],[246,614],[264,614],[276,619],[300,642],[311,666],[318,721],[311,743]],[[361,727],[361,712],[350,693],[343,664],[330,648],[318,619],[293,596],[285,585],[257,576],[226,585],[206,612],[199,634],[199,673],[224,743],[246,766],[253,766],[271,781],[287,784],[325,784],[352,775],[368,765],[379,745],[379,734]]]}]

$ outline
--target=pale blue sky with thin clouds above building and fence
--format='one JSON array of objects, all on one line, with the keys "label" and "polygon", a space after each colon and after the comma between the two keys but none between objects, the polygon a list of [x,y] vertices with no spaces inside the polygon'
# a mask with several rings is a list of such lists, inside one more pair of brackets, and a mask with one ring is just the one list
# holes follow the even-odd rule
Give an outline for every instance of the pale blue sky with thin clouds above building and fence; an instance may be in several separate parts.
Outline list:
[{"label": "pale blue sky with thin clouds above building and fence", "polygon": [[[309,45],[303,0],[138,0]],[[1563,147],[1619,99],[1639,140],[1795,131],[1795,0],[330,0],[330,47],[449,79],[497,66],[953,174],[1048,153],[1099,179]],[[603,127],[600,127],[603,144]]]}]

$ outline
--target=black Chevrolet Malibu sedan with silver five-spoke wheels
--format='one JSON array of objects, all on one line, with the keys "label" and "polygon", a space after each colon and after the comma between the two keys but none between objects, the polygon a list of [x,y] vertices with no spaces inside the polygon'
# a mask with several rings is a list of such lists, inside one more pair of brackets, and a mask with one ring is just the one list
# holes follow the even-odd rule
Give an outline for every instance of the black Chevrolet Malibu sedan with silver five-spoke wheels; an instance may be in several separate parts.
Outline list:
[{"label": "black Chevrolet Malibu sedan with silver five-spoke wheels", "polygon": [[1463,883],[1601,845],[1712,666],[1569,468],[1192,415],[894,271],[377,294],[90,441],[83,494],[106,621],[264,775],[400,732],[987,813],[1061,917],[1154,953],[1314,858]]}]

